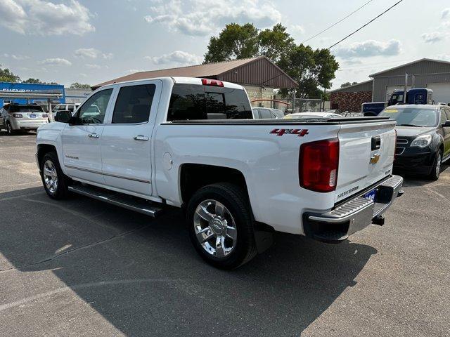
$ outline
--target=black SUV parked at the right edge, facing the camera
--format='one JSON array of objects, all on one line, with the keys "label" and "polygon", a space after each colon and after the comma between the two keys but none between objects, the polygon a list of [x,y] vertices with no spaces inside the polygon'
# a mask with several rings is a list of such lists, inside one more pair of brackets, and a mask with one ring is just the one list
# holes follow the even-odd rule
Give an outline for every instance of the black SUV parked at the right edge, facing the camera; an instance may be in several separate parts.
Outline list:
[{"label": "black SUV parked at the right edge, facing the camera", "polygon": [[439,178],[450,158],[450,108],[446,105],[394,105],[380,116],[397,121],[394,169]]}]

